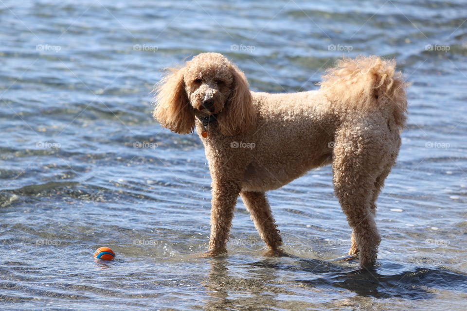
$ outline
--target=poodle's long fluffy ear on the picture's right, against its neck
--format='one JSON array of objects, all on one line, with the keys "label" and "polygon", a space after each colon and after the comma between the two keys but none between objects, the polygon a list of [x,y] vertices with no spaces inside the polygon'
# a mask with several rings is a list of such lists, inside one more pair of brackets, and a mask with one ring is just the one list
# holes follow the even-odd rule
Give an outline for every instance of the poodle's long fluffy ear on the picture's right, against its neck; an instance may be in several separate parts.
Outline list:
[{"label": "poodle's long fluffy ear on the picture's right, against its neck", "polygon": [[240,69],[230,66],[234,79],[230,98],[217,116],[219,131],[228,136],[246,132],[256,122],[247,78]]}]

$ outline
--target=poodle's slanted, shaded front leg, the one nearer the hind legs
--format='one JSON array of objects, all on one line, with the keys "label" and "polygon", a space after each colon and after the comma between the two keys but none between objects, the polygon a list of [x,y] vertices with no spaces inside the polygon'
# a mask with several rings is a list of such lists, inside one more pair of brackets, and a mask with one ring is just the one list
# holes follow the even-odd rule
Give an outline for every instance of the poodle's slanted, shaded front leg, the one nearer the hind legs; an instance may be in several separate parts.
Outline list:
[{"label": "poodle's slanted, shaded front leg, the one nearer the hind legs", "polygon": [[264,192],[242,191],[240,195],[251,213],[251,219],[258,229],[259,235],[270,249],[270,253],[278,253],[282,238],[272,217],[271,208]]}]

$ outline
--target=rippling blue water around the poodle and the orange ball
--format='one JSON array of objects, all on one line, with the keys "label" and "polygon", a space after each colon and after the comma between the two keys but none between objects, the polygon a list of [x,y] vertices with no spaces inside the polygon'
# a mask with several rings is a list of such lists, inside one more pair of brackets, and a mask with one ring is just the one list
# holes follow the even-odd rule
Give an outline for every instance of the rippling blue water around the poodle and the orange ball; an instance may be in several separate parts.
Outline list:
[{"label": "rippling blue water around the poodle and the orange ball", "polygon": [[[0,307],[465,310],[466,13],[436,0],[0,1]],[[261,255],[240,201],[229,256],[191,256],[209,238],[208,167],[198,137],[151,119],[150,91],[163,67],[208,51],[268,92],[318,88],[343,54],[397,59],[410,117],[373,271],[330,261],[350,237],[330,167],[269,193],[290,257]],[[99,246],[117,259],[95,263]]]}]

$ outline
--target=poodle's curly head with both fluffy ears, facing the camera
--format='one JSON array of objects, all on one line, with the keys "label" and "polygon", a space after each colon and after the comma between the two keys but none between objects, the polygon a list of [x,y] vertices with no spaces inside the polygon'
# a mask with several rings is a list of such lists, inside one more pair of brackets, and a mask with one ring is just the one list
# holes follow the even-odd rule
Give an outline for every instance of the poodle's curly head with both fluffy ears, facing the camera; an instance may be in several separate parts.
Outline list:
[{"label": "poodle's curly head with both fluffy ears, facing the camera", "polygon": [[155,100],[154,118],[180,134],[193,131],[195,113],[216,115],[224,135],[247,131],[256,116],[245,75],[219,53],[201,53],[170,69]]}]

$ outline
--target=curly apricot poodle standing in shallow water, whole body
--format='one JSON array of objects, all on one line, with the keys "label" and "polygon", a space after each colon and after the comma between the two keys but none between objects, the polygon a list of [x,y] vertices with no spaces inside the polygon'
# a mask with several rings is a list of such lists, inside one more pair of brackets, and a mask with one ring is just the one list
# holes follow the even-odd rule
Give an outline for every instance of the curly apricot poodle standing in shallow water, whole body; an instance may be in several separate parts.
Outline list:
[{"label": "curly apricot poodle standing in shallow water, whole body", "polygon": [[349,258],[377,259],[376,200],[395,164],[406,121],[406,87],[394,60],[343,58],[320,89],[269,94],[249,89],[245,74],[219,53],[201,53],[170,69],[156,88],[154,117],[173,132],[195,129],[212,177],[206,256],[225,253],[238,195],[269,254],[280,231],[266,191],[332,164],[334,192],[352,228]]}]

